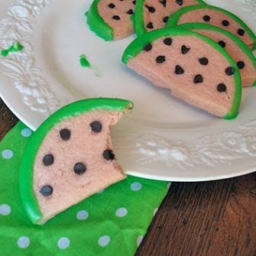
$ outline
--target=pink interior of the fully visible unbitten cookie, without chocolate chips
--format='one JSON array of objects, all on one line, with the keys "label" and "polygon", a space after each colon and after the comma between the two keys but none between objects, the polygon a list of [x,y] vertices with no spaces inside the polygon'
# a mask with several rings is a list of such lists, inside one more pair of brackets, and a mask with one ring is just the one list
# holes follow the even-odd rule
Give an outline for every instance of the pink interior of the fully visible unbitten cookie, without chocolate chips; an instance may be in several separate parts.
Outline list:
[{"label": "pink interior of the fully visible unbitten cookie, without chocolate chips", "polygon": [[[176,36],[173,43],[164,44],[164,37],[154,41],[150,51],[141,51],[128,61],[128,66],[150,79],[155,85],[171,89],[172,95],[213,115],[224,117],[232,108],[235,96],[235,78],[228,76],[225,70],[230,66],[228,60],[205,41],[195,36]],[[181,47],[190,48],[186,54]],[[157,63],[157,56],[165,56],[164,63]],[[207,66],[199,63],[206,57]],[[175,67],[180,65],[184,73],[175,74]],[[203,83],[193,83],[196,75],[203,76]],[[217,86],[224,83],[226,92],[219,92]]]}]

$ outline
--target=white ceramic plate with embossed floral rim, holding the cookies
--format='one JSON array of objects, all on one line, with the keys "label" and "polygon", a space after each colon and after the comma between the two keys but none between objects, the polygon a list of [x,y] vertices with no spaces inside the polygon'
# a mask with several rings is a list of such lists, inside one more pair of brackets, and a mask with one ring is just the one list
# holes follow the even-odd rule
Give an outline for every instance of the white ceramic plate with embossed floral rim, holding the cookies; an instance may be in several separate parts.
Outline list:
[{"label": "white ceramic plate with embossed floral rim, holding the cookies", "polygon": [[[200,181],[256,170],[256,89],[244,90],[233,121],[214,118],[153,86],[121,63],[133,37],[106,43],[86,24],[90,0],[1,0],[0,48],[24,50],[0,58],[0,95],[33,130],[68,102],[89,97],[134,101],[113,131],[127,173],[156,180]],[[256,30],[254,0],[208,1],[234,11]],[[253,27],[254,26],[254,27]],[[79,66],[85,53],[100,73]]]}]

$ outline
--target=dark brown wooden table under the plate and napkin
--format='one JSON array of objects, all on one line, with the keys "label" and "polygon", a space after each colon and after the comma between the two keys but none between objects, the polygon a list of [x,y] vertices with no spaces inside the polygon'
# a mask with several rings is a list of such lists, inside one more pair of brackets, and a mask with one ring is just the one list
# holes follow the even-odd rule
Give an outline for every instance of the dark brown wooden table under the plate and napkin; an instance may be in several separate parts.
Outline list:
[{"label": "dark brown wooden table under the plate and napkin", "polygon": [[[0,99],[0,140],[17,122]],[[136,255],[256,256],[256,173],[173,183]]]}]

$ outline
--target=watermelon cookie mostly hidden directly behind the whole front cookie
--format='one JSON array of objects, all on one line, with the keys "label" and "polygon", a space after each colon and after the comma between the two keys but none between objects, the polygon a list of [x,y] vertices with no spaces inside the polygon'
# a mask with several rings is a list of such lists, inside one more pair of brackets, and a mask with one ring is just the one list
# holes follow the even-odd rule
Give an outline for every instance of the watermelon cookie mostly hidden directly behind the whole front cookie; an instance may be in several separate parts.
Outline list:
[{"label": "watermelon cookie mostly hidden directly behind the whole front cookie", "polygon": [[241,73],[243,87],[256,86],[256,58],[250,48],[234,34],[209,24],[186,23],[178,28],[195,31],[212,38],[230,54]]}]

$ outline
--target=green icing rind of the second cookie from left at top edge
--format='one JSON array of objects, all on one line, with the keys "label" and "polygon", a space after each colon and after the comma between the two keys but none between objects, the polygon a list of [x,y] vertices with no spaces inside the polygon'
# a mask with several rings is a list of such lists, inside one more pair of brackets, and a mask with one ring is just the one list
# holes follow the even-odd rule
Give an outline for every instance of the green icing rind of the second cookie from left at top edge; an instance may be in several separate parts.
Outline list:
[{"label": "green icing rind of the second cookie from left at top edge", "polygon": [[[205,4],[203,0],[196,0],[199,4]],[[145,29],[144,25],[144,2],[145,0],[136,0],[136,8],[135,8],[135,15],[134,15],[134,28],[135,32],[138,36],[142,34],[146,34],[147,30]]]}]

